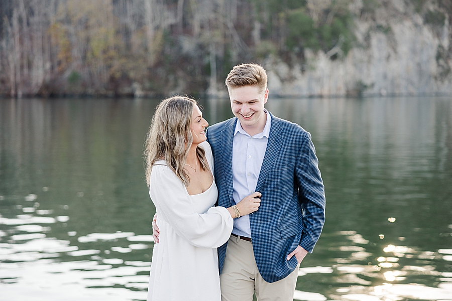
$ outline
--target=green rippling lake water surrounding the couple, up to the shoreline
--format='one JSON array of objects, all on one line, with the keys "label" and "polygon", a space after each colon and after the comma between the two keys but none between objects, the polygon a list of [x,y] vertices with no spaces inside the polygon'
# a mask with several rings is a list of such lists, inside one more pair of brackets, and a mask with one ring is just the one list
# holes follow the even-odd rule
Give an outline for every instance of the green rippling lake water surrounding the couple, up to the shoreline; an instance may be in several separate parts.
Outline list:
[{"label": "green rippling lake water surrounding the couple, up to the shoreline", "polygon": [[[145,300],[158,100],[0,99],[0,299]],[[203,100],[213,124],[228,100]],[[452,300],[452,100],[270,99],[312,134],[326,223],[295,300]]]}]

